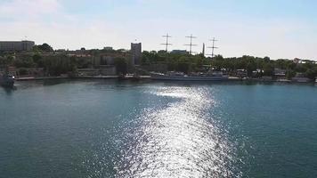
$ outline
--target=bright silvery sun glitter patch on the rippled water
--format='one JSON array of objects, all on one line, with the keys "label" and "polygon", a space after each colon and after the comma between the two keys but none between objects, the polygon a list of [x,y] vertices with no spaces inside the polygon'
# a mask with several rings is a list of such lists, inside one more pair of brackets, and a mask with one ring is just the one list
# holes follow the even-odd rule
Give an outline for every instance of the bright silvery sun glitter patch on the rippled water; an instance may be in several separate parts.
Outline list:
[{"label": "bright silvery sun glitter patch on the rippled water", "polygon": [[179,99],[144,109],[126,130],[117,177],[240,177],[234,147],[211,117],[206,88],[161,87],[152,94]]}]

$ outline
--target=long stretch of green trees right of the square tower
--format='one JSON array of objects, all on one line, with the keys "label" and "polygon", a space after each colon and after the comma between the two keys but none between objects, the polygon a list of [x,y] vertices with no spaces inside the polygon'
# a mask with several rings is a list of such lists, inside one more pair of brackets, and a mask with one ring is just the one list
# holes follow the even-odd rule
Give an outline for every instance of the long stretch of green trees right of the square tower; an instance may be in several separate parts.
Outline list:
[{"label": "long stretch of green trees right of the square tower", "polygon": [[199,72],[210,67],[216,71],[225,69],[228,73],[234,73],[238,69],[245,69],[248,77],[253,76],[253,71],[260,71],[257,77],[274,75],[274,69],[283,69],[288,78],[302,73],[311,79],[317,77],[317,64],[314,61],[295,63],[288,59],[273,61],[269,57],[254,57],[244,55],[242,57],[224,58],[216,55],[214,58],[205,57],[202,54],[177,54],[165,52],[143,52],[142,65],[166,64],[168,70],[181,71],[184,73]]}]

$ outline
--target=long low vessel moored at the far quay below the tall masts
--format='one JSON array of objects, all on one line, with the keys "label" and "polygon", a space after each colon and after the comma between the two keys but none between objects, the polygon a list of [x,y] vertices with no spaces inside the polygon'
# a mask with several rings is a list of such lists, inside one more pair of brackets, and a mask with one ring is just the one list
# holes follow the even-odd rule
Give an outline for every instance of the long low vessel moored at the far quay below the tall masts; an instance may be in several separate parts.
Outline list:
[{"label": "long low vessel moored at the far quay below the tall masts", "polygon": [[199,75],[184,75],[182,72],[169,72],[167,74],[151,73],[153,80],[175,80],[175,81],[227,81],[228,76],[223,73],[199,74]]}]

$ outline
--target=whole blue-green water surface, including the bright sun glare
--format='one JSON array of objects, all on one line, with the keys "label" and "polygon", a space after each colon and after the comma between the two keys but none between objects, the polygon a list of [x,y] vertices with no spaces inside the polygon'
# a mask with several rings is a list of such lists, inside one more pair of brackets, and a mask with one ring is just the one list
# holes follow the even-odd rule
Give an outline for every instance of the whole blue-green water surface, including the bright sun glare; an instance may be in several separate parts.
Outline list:
[{"label": "whole blue-green water surface, including the bright sun glare", "polygon": [[317,86],[20,82],[0,177],[317,177]]}]

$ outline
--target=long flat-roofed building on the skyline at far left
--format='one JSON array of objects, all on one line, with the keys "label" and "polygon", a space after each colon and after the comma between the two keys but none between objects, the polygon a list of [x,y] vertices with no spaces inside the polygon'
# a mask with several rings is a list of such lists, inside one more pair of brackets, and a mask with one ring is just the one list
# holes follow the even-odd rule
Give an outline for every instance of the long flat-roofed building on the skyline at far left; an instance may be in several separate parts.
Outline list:
[{"label": "long flat-roofed building on the skyline at far left", "polygon": [[34,45],[33,41],[0,41],[0,52],[28,52]]}]

